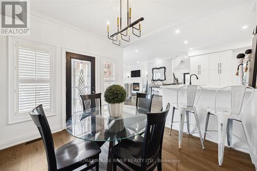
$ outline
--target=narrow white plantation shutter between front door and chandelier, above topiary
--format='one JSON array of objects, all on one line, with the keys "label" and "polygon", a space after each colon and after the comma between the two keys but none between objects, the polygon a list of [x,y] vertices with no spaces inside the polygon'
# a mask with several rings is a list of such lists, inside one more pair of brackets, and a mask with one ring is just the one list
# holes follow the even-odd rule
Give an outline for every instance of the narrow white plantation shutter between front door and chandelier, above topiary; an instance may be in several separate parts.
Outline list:
[{"label": "narrow white plantation shutter between front door and chandelier, above topiary", "polygon": [[116,82],[116,61],[103,60],[103,91]]}]

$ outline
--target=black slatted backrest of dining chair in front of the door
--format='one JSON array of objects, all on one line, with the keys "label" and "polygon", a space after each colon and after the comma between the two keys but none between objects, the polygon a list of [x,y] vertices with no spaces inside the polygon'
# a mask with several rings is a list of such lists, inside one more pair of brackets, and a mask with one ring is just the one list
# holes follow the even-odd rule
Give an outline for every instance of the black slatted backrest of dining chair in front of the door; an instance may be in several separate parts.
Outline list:
[{"label": "black slatted backrest of dining chair in front of the door", "polygon": [[85,111],[91,108],[101,109],[101,94],[102,93],[80,95],[83,103],[83,110]]}]

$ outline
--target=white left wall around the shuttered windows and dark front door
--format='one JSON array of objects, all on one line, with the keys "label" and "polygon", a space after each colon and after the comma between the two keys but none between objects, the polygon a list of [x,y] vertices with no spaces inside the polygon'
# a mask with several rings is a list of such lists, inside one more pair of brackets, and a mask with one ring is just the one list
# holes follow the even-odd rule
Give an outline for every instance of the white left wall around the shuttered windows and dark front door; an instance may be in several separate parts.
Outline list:
[{"label": "white left wall around the shuttered windows and dark front door", "polygon": [[[30,19],[30,35],[19,36],[19,38],[56,47],[56,56],[54,56],[56,57],[54,67],[57,76],[55,80],[56,115],[48,117],[52,132],[61,131],[65,126],[63,122],[63,116],[65,116],[65,55],[63,51],[65,49],[96,57],[97,92],[101,92],[102,57],[117,59],[117,83],[123,83],[123,50],[118,46],[36,16],[31,16]],[[0,77],[0,149],[2,149],[37,138],[39,132],[31,120],[8,124],[8,37],[0,36],[0,43],[0,71],[2,73]]]}]

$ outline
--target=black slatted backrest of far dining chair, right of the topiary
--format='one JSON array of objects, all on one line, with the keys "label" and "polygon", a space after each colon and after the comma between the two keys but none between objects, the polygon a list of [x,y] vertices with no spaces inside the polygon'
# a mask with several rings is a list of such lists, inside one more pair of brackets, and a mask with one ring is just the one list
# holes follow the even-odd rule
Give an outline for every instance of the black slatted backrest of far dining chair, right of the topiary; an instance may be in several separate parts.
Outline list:
[{"label": "black slatted backrest of far dining chair, right of the topiary", "polygon": [[153,97],[154,94],[137,93],[137,113],[144,113],[145,111],[146,114],[148,112],[151,112]]}]

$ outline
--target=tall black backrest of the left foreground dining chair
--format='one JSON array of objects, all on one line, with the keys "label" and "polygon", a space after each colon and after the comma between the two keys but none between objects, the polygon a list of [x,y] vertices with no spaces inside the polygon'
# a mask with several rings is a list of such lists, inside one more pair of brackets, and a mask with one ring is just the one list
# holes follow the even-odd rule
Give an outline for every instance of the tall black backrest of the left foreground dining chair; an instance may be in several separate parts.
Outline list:
[{"label": "tall black backrest of the left foreground dining chair", "polygon": [[48,121],[46,119],[45,112],[43,110],[43,105],[40,104],[35,109],[33,109],[29,114],[32,120],[34,121],[35,125],[38,126],[40,135],[44,142],[48,170],[57,170],[56,155],[54,153],[52,133]]}]

